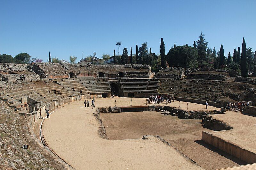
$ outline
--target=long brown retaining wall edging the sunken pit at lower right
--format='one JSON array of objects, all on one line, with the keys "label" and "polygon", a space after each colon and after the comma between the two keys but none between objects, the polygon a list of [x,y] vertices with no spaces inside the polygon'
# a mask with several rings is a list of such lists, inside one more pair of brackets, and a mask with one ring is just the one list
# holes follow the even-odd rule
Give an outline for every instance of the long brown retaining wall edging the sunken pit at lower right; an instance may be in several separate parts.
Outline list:
[{"label": "long brown retaining wall edging the sunken pit at lower right", "polygon": [[228,141],[225,141],[219,137],[214,136],[214,133],[218,133],[220,131],[215,132],[202,132],[202,140],[207,144],[215,146],[216,148],[225,151],[236,158],[239,158],[247,163],[256,163],[256,154],[250,152],[244,148],[241,148],[235,144],[232,144]]}]

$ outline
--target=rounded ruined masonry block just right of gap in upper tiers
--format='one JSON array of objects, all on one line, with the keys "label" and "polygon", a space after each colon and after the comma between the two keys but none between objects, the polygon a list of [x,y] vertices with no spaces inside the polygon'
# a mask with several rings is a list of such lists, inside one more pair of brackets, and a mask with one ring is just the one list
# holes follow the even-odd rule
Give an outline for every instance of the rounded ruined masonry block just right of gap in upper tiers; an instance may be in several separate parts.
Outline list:
[{"label": "rounded ruined masonry block just right of gap in upper tiers", "polygon": [[163,68],[156,73],[156,78],[184,78],[184,69],[182,67]]}]

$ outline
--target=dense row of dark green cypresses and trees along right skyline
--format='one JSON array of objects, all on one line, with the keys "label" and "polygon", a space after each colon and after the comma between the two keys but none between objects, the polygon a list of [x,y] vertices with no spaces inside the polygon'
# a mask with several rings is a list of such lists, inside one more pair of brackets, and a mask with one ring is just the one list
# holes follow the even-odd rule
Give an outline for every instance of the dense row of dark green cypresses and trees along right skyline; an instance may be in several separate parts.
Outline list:
[{"label": "dense row of dark green cypresses and trees along right skyline", "polygon": [[[130,61],[128,61],[130,59]],[[136,53],[132,54],[132,48],[130,55],[127,48],[124,48],[121,56],[116,55],[114,50],[114,63],[115,64],[148,64],[153,69],[161,69],[166,67],[166,63],[170,67],[183,67],[185,69],[190,68],[203,68],[213,67],[214,69],[227,69],[236,70],[241,76],[247,77],[248,73],[252,71],[256,73],[256,51],[253,52],[252,48],[246,48],[246,42],[243,38],[242,49],[240,47],[234,49],[233,56],[228,53],[228,57],[224,55],[223,45],[220,45],[220,50],[216,52],[216,48],[208,48],[208,42],[204,38],[204,34],[201,32],[199,40],[194,41],[193,47],[188,44],[183,46],[174,46],[170,48],[169,52],[165,54],[164,40],[160,41],[160,54],[151,52],[147,42],[141,44],[138,48],[136,45]],[[160,66],[161,64],[161,66]],[[160,68],[157,68],[157,66]]]}]

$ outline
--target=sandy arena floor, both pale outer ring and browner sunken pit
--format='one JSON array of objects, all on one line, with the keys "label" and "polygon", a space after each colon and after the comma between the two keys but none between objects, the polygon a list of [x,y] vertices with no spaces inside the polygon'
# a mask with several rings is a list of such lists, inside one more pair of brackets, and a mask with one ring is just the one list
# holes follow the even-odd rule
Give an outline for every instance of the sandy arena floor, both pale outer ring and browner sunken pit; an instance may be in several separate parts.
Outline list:
[{"label": "sandy arena floor, both pale outer ring and browner sunken pit", "polygon": [[[130,106],[130,99],[119,97],[96,99],[95,106],[113,107],[115,105],[114,100],[117,100],[117,106]],[[132,106],[146,105],[145,100],[144,98],[133,98]],[[89,101],[91,102],[91,99]],[[179,102],[175,101],[168,105],[179,107]],[[187,102],[180,102],[180,106],[186,109]],[[180,120],[172,116],[163,117],[163,115],[154,112],[151,112],[153,116],[148,112],[142,112],[143,115],[139,116],[136,115],[137,112],[133,117],[135,116],[135,120],[138,120],[138,118],[141,120],[139,124],[136,123],[139,120],[132,121],[132,117],[128,119],[129,116],[124,115],[127,119],[123,119],[121,123],[119,122],[119,128],[116,125],[113,126],[114,130],[110,133],[107,123],[111,123],[111,121],[106,121],[104,114],[101,114],[103,124],[107,126],[108,137],[115,139],[106,140],[99,137],[100,125],[96,117],[93,116],[93,110],[91,109],[92,107],[84,107],[84,100],[75,101],[55,111],[44,122],[43,135],[48,146],[76,169],[200,169],[200,166],[207,166],[207,164],[204,165],[206,162],[210,164],[207,169],[214,169],[212,167],[216,164],[221,164],[216,166],[219,168],[236,166],[239,163],[235,163],[232,156],[230,157],[232,160],[227,159],[230,155],[223,154],[220,156],[221,151],[218,154],[212,151],[212,148],[209,149],[200,144],[200,133],[205,130],[201,127],[200,120]],[[206,110],[204,105],[194,103],[189,103],[188,109]],[[215,109],[215,107],[208,107],[208,110],[212,109]],[[118,115],[122,114],[124,113],[113,114],[115,115],[112,117],[113,120],[121,120],[123,116],[118,118]],[[108,119],[110,118],[109,116]],[[145,122],[145,120],[148,121]],[[162,124],[160,120],[163,120],[161,121]],[[154,128],[153,123],[161,124],[161,128]],[[125,129],[126,126],[130,126],[130,129],[134,126],[133,131]],[[139,130],[138,127],[140,127]],[[200,157],[200,161],[196,161],[200,166],[197,166],[173,147],[162,143],[157,138],[138,139],[142,135],[146,135],[145,133],[160,135],[165,140],[168,139],[169,143],[188,155],[190,159],[195,160]],[[205,148],[209,150],[208,153]],[[210,156],[207,157],[207,155]],[[217,160],[213,161],[215,159]]]}]

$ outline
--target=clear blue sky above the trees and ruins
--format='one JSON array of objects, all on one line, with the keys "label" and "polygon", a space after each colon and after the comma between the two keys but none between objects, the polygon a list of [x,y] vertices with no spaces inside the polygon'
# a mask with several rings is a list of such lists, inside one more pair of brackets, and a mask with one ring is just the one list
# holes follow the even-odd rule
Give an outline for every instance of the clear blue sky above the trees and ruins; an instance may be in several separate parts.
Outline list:
[{"label": "clear blue sky above the trees and ruins", "polygon": [[0,0],[0,54],[13,57],[26,52],[48,61],[52,57],[78,59],[96,52],[113,55],[121,41],[124,47],[148,42],[152,52],[165,52],[176,45],[193,46],[200,32],[208,47],[220,49],[225,56],[242,46],[256,50],[255,0],[222,1],[12,1]]}]

